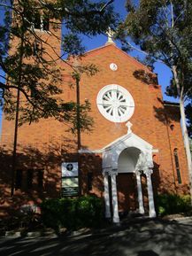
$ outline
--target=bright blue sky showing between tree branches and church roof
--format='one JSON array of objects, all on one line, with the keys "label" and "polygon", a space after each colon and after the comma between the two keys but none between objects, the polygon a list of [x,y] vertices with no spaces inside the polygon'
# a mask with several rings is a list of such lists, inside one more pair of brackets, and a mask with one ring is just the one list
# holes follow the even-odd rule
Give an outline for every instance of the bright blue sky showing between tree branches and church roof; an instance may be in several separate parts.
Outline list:
[{"label": "bright blue sky showing between tree branches and church roof", "polygon": [[[121,18],[125,18],[127,15],[125,4],[126,4],[126,0],[114,1],[115,11],[119,12]],[[0,8],[0,26],[1,26],[2,20],[3,20],[3,10],[2,8]],[[85,36],[82,37],[82,42],[84,43],[86,50],[92,50],[97,47],[100,47],[104,45],[104,43],[106,43],[106,40],[107,40],[107,37],[105,35],[98,35],[93,38],[88,38]],[[120,43],[119,42],[116,42],[116,43],[117,43],[117,46],[120,47]],[[137,52],[136,50],[132,51],[130,55],[132,55],[133,57],[140,56],[139,52]],[[169,85],[169,81],[172,77],[172,73],[170,69],[167,66],[163,65],[162,63],[157,63],[155,65],[154,72],[157,73],[158,75],[158,83],[162,86],[164,99],[168,101],[175,101],[173,97],[167,97],[165,95],[165,88],[166,86]],[[0,133],[1,133],[1,119],[2,119],[2,113],[0,112]]]}]

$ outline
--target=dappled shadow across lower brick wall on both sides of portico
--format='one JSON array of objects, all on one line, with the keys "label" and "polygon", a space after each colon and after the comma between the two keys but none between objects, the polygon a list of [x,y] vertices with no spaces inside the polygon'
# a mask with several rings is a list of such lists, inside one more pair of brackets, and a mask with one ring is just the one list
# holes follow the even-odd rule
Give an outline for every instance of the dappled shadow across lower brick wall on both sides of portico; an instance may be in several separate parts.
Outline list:
[{"label": "dappled shadow across lower brick wall on both sides of portico", "polygon": [[[69,153],[70,152],[70,153]],[[73,140],[63,138],[63,144],[44,144],[41,149],[33,146],[19,145],[17,156],[16,190],[11,198],[12,177],[12,151],[0,149],[0,208],[1,215],[5,213],[12,215],[20,206],[28,204],[38,205],[44,198],[59,198],[61,196],[61,163],[64,161],[80,162],[81,194],[95,194],[97,197],[104,196],[104,177],[102,175],[102,157],[99,154],[76,153],[76,143]],[[179,192],[174,183],[173,175],[164,172],[164,180],[160,180],[159,166],[154,161],[154,172],[152,175],[154,195],[158,191],[162,193]],[[119,210],[127,207],[127,211],[138,208],[137,189],[132,176],[122,174],[117,177],[119,198]],[[17,181],[19,180],[19,181]],[[130,186],[128,184],[131,184]],[[164,184],[160,187],[160,183]],[[180,185],[181,191],[188,188]],[[144,206],[148,211],[148,195],[146,177],[142,175],[142,191]],[[184,192],[185,193],[185,192]],[[155,197],[156,198],[156,197]]]}]

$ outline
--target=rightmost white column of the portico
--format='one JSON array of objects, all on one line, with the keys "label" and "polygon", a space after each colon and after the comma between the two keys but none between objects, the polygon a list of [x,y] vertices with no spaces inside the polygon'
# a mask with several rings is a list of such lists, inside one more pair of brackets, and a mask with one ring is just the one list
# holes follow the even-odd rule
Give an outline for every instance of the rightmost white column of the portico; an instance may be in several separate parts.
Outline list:
[{"label": "rightmost white column of the portico", "polygon": [[153,198],[153,188],[151,182],[151,175],[153,171],[150,168],[146,168],[144,170],[144,174],[147,177],[147,187],[148,187],[148,199],[149,199],[149,207],[150,207],[150,218],[156,217],[156,210],[154,205],[154,198]]}]

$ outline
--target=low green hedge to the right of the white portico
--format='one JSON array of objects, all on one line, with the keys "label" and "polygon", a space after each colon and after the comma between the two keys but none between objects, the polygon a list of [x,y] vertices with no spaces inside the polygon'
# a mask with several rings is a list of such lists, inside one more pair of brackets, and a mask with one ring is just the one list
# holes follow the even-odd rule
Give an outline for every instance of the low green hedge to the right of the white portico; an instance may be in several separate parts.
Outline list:
[{"label": "low green hedge to the right of the white portico", "polygon": [[191,200],[189,195],[162,194],[157,196],[157,213],[160,216],[174,213],[191,213]]}]

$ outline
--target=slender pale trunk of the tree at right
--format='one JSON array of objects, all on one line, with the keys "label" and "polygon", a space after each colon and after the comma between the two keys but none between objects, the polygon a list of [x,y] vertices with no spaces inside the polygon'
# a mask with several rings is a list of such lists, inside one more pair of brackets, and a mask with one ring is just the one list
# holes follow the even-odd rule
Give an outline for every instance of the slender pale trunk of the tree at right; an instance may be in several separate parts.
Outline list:
[{"label": "slender pale trunk of the tree at right", "polygon": [[180,120],[181,120],[182,132],[183,132],[185,151],[186,151],[186,156],[188,161],[189,190],[190,190],[191,204],[192,204],[192,159],[191,159],[190,144],[188,139],[188,129],[186,125],[185,107],[184,107],[183,96],[180,93],[180,82],[178,79],[176,66],[173,66],[172,70],[173,70],[174,81],[177,87],[178,96],[180,97]]}]

